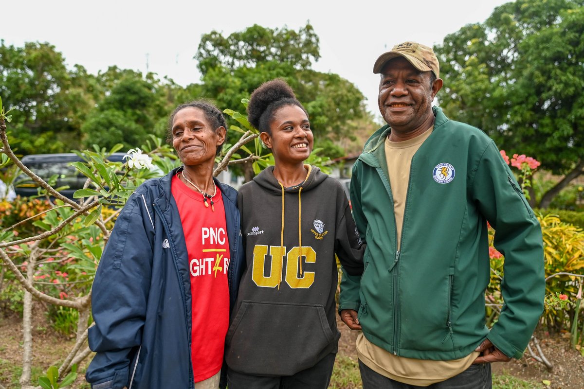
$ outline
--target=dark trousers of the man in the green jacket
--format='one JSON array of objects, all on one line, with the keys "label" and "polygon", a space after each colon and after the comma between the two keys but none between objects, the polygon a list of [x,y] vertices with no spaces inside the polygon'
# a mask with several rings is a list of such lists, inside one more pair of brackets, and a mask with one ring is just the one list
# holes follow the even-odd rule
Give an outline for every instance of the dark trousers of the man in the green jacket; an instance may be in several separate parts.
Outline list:
[{"label": "dark trousers of the man in the green jacket", "polygon": [[491,389],[491,364],[471,365],[464,372],[430,386],[408,385],[382,376],[359,360],[363,389]]}]

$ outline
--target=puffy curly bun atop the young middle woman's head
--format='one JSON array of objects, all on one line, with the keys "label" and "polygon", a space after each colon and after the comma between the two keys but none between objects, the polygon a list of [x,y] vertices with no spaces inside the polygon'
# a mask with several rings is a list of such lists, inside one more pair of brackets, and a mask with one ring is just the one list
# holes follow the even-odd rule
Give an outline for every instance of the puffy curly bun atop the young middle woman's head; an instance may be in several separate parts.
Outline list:
[{"label": "puffy curly bun atop the young middle woman's head", "polygon": [[[248,104],[248,120],[253,125],[253,127],[260,130],[265,130],[260,128],[260,118],[262,114],[268,110],[268,108],[275,108],[274,104],[280,100],[287,100],[289,103],[300,106],[300,101],[296,99],[294,91],[281,78],[277,78],[271,81],[267,81],[260,85],[256,90],[253,91],[251,97],[249,97]],[[274,104],[274,107],[270,107]],[[272,109],[273,110],[273,109]],[[271,111],[271,110],[270,110]],[[269,116],[272,116],[271,114]]]}]

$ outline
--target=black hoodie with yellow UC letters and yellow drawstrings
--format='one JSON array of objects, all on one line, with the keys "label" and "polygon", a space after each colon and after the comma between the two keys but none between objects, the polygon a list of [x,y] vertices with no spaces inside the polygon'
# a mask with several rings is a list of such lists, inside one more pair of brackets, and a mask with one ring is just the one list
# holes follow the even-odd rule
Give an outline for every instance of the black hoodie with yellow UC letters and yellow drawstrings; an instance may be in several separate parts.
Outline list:
[{"label": "black hoodie with yellow UC letters and yellow drawstrings", "polygon": [[239,190],[246,268],[225,358],[240,373],[291,376],[336,353],[335,254],[349,274],[363,269],[345,191],[305,166],[296,187],[284,188],[269,167]]}]

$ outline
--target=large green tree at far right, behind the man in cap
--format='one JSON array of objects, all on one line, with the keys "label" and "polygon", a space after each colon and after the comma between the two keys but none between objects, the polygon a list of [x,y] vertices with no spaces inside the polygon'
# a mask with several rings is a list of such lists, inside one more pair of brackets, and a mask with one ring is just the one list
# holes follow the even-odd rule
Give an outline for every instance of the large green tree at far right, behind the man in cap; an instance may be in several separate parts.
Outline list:
[{"label": "large green tree at far right, behind the man in cap", "polygon": [[583,42],[582,0],[517,0],[436,47],[446,113],[563,176],[541,208],[584,173]]}]

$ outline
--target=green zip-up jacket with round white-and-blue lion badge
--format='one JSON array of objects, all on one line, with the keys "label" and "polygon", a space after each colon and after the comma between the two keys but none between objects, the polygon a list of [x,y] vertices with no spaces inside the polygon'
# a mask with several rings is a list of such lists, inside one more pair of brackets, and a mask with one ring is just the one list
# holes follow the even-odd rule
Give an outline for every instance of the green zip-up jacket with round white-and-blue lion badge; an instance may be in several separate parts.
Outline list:
[{"label": "green zip-up jacket with round white-and-blue lion badge", "polygon": [[[433,112],[434,130],[412,158],[400,251],[387,125],[353,166],[353,217],[367,247],[363,273],[343,274],[339,310],[357,310],[365,337],[394,355],[458,359],[488,338],[520,358],[543,311],[541,227],[495,143],[440,108]],[[505,255],[505,305],[491,330],[485,325],[486,222]]]}]

